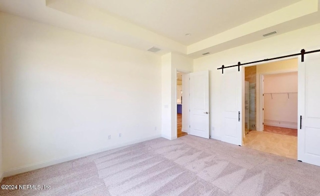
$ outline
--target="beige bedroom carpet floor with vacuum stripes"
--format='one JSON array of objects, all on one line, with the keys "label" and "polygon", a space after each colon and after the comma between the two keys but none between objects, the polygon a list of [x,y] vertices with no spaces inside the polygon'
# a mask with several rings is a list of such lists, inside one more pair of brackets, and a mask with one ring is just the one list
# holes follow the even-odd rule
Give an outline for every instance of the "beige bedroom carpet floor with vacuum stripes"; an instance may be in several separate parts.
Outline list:
[{"label": "beige bedroom carpet floor with vacuum stripes", "polygon": [[320,167],[191,135],[152,139],[6,177],[0,195],[317,195]]}]

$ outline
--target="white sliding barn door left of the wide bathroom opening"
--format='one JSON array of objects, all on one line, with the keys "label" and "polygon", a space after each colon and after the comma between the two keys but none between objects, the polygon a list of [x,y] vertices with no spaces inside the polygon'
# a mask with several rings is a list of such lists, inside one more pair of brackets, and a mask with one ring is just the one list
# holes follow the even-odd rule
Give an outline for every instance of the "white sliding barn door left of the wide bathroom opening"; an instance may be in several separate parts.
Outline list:
[{"label": "white sliding barn door left of the wide bathroom opening", "polygon": [[223,110],[221,140],[242,145],[242,68],[223,69],[221,105]]}]

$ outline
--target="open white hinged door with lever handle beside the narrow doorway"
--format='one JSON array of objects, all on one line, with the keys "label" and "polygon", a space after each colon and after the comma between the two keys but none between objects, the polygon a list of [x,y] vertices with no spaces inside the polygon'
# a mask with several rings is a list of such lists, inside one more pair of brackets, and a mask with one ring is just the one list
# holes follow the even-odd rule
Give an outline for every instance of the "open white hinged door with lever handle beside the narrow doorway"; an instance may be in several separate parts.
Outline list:
[{"label": "open white hinged door with lever handle beside the narrow doorway", "polygon": [[[209,138],[209,71],[189,73],[190,133]],[[182,92],[183,93],[183,92]],[[183,114],[182,114],[183,115]]]}]

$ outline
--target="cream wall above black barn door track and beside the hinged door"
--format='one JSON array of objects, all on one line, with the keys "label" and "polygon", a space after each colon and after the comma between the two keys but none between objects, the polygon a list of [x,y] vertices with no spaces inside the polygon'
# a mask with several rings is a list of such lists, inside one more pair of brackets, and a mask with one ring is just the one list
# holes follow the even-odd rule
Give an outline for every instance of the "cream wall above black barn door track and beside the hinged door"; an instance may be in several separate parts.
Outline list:
[{"label": "cream wall above black barn door track and beside the hinged door", "polygon": [[[279,55],[298,53],[302,48],[320,48],[320,24],[308,26],[288,33],[266,37],[263,40],[234,47],[215,54],[194,59],[193,71],[209,70],[210,73],[210,135],[221,138],[221,70],[216,68],[240,62],[249,62]],[[237,67],[233,67],[237,68]]]}]

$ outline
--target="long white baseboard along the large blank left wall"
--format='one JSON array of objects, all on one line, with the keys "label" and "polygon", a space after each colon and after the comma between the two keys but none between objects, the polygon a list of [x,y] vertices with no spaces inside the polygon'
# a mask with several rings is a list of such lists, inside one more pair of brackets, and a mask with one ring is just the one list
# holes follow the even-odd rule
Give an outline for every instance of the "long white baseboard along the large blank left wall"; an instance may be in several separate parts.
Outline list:
[{"label": "long white baseboard along the large blank left wall", "polygon": [[121,143],[121,144],[118,144],[118,145],[112,145],[112,146],[105,147],[105,148],[85,151],[85,152],[76,153],[76,154],[72,154],[72,155],[68,155],[68,156],[63,156],[63,157],[60,157],[60,158],[55,158],[55,159],[51,159],[51,160],[47,160],[47,161],[37,162],[37,163],[28,164],[28,165],[21,166],[21,167],[9,169],[9,170],[6,170],[6,171],[4,171],[2,173],[0,179],[2,180],[3,177],[16,175],[16,174],[19,174],[19,173],[24,173],[24,172],[31,171],[31,170],[34,170],[34,169],[43,168],[43,167],[50,166],[50,165],[53,165],[53,164],[58,164],[58,163],[61,163],[61,162],[74,160],[74,159],[81,158],[81,157],[84,157],[84,156],[88,156],[88,155],[91,155],[91,154],[103,152],[103,151],[106,151],[106,150],[109,150],[109,149],[114,149],[114,148],[117,148],[117,147],[122,147],[122,146],[130,145],[130,144],[134,144],[134,143],[139,143],[139,142],[142,142],[142,141],[155,139],[155,138],[158,138],[158,137],[161,137],[161,135],[154,135],[154,136],[149,136],[149,137],[145,137],[145,138],[141,138],[141,139],[135,139],[135,140],[131,140],[131,141],[128,141],[128,142],[125,142],[125,143]]}]

